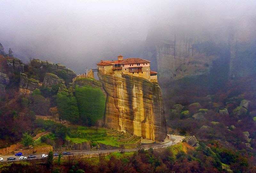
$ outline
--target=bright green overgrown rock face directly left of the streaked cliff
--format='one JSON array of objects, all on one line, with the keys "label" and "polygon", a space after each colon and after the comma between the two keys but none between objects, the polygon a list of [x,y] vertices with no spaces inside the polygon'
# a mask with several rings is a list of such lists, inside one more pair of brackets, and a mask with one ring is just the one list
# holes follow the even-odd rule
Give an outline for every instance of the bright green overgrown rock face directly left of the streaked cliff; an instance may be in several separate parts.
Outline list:
[{"label": "bright green overgrown rock face directly left of the streaked cliff", "polygon": [[99,88],[76,86],[75,96],[83,124],[92,126],[103,119],[106,98]]}]

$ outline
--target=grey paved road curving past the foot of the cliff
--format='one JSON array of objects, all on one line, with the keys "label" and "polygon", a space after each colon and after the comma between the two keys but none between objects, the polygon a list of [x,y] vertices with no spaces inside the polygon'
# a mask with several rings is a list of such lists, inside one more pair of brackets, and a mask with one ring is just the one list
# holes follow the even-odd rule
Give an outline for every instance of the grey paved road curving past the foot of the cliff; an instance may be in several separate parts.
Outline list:
[{"label": "grey paved road curving past the foot of the cliff", "polygon": [[[172,146],[172,145],[178,144],[179,142],[181,142],[183,140],[183,138],[185,138],[183,136],[170,135],[170,134],[168,134],[168,136],[169,136],[169,139],[165,140],[164,142],[156,143],[156,144],[142,144],[141,146],[146,150],[149,149],[150,147],[152,147],[153,149],[164,148],[167,146]],[[137,148],[125,149],[124,151],[125,152],[137,151]],[[119,149],[114,149],[114,150],[76,150],[76,151],[68,151],[68,152],[71,152],[74,155],[78,155],[78,154],[114,153],[114,152],[120,152],[120,150]],[[53,152],[53,153],[60,153],[60,152]],[[41,158],[41,154],[43,154],[43,153],[23,154],[23,156],[28,157],[29,155],[34,155],[37,158]],[[48,153],[44,153],[44,154],[48,154]],[[65,155],[63,155],[63,156],[65,156]],[[8,157],[17,158],[16,161],[20,160],[19,159],[20,156],[14,156],[14,155],[3,155],[3,156],[0,155],[0,157],[2,157],[4,159],[4,161],[6,161]]]}]

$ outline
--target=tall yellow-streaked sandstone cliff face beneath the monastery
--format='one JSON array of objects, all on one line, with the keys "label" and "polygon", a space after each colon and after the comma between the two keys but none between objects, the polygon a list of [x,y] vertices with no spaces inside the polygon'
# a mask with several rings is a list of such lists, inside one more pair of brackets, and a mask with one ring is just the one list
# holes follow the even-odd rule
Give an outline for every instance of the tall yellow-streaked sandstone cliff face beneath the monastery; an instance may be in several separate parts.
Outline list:
[{"label": "tall yellow-streaked sandstone cliff face beneath the monastery", "polygon": [[104,123],[108,128],[163,141],[166,137],[164,103],[158,84],[131,75],[98,72],[107,93]]}]

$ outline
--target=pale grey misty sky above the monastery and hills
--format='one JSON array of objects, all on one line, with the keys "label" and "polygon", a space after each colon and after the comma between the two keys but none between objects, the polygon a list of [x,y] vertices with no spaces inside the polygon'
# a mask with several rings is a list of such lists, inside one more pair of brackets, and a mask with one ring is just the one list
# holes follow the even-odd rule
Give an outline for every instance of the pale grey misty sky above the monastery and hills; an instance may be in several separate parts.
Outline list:
[{"label": "pale grey misty sky above the monastery and hills", "polygon": [[256,30],[255,0],[1,0],[0,4],[0,43],[7,53],[11,47],[24,62],[30,57],[48,60],[77,74],[85,67],[95,68],[100,59],[129,56],[148,33]]}]

